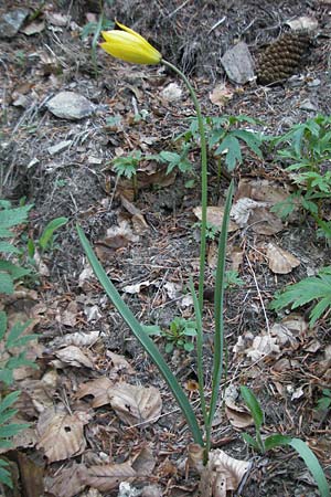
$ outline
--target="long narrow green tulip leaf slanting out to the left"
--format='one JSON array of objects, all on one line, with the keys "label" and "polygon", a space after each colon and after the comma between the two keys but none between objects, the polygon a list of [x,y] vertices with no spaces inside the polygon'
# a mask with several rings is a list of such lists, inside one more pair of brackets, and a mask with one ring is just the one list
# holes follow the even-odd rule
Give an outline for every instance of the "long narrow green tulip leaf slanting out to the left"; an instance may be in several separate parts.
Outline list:
[{"label": "long narrow green tulip leaf slanting out to the left", "polygon": [[203,446],[202,433],[199,427],[194,411],[193,411],[186,395],[184,394],[181,385],[177,381],[175,377],[173,376],[172,371],[168,367],[166,360],[161,356],[161,353],[160,353],[159,349],[157,348],[157,346],[154,345],[154,342],[151,340],[151,338],[149,338],[149,336],[142,329],[140,322],[136,319],[132,311],[125,304],[125,302],[120,297],[119,293],[113,285],[111,281],[108,278],[104,267],[97,260],[82,228],[78,225],[77,225],[77,232],[78,232],[78,236],[79,236],[81,243],[83,245],[83,248],[89,261],[89,264],[92,265],[93,271],[95,272],[100,284],[103,285],[106,294],[108,295],[108,297],[113,302],[114,306],[117,308],[118,313],[121,315],[122,319],[130,327],[131,331],[134,332],[134,335],[136,336],[138,341],[141,343],[141,346],[143,347],[146,352],[149,355],[149,357],[156,363],[160,373],[164,378],[164,380],[168,383],[170,390],[172,391],[177,402],[179,403],[179,406],[180,406],[182,413],[184,414],[184,416],[188,421],[188,424],[190,426],[190,430],[192,432],[195,443]]}]

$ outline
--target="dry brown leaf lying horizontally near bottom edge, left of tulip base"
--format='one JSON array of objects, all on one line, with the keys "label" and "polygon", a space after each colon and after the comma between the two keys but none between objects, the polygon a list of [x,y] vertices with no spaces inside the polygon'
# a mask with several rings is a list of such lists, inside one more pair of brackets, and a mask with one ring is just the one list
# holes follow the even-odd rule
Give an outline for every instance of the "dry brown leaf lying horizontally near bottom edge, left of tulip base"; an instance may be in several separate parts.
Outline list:
[{"label": "dry brown leaf lying horizontally near bottom edge, left of tulip base", "polygon": [[83,475],[82,482],[100,491],[118,488],[121,482],[134,482],[136,472],[130,463],[90,466]]}]

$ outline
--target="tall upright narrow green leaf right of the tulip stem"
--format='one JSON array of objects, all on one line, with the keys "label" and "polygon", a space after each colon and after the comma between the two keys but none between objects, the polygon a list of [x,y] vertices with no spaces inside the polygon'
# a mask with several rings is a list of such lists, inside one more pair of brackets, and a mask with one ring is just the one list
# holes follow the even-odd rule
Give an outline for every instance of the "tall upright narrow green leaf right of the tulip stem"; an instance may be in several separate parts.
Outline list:
[{"label": "tall upright narrow green leaf right of the tulip stem", "polygon": [[220,243],[218,243],[218,258],[217,258],[216,281],[215,281],[215,310],[214,310],[215,337],[214,337],[213,382],[212,382],[212,399],[209,412],[209,423],[206,430],[209,444],[210,444],[212,422],[216,410],[221,378],[223,373],[223,359],[224,359],[223,309],[224,309],[224,287],[225,287],[225,258],[226,258],[227,229],[229,221],[233,189],[234,186],[233,182],[231,182],[226,197],[222,223],[222,232],[220,235]]}]

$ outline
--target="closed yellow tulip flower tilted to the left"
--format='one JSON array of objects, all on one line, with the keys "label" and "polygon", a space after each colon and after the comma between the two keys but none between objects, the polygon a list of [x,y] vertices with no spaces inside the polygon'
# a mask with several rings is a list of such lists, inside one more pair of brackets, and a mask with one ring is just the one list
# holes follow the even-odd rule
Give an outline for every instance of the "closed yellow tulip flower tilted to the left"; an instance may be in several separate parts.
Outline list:
[{"label": "closed yellow tulip flower tilted to the left", "polygon": [[121,59],[132,64],[159,64],[162,59],[145,38],[116,21],[116,24],[122,30],[103,31],[105,39],[100,47],[110,53],[116,59]]}]

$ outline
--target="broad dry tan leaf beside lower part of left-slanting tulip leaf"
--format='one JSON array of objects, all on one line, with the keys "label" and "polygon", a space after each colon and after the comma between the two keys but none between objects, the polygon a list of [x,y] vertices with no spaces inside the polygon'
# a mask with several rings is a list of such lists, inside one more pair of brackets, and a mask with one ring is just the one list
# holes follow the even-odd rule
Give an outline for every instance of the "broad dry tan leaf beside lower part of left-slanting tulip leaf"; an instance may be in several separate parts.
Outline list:
[{"label": "broad dry tan leaf beside lower part of left-slanting tulip leaf", "polygon": [[111,408],[129,425],[154,423],[161,414],[161,395],[154,387],[136,387],[121,382],[113,387],[108,395]]}]

